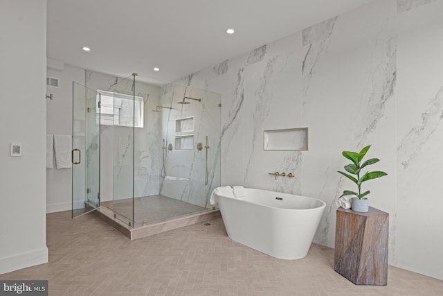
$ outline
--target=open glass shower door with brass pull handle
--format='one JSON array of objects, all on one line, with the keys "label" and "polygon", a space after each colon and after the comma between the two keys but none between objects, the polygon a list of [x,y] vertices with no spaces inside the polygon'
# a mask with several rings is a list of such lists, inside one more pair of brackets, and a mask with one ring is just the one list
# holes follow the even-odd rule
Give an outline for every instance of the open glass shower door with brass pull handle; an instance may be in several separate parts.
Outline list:
[{"label": "open glass shower door with brass pull handle", "polygon": [[72,217],[100,206],[100,96],[73,82]]}]

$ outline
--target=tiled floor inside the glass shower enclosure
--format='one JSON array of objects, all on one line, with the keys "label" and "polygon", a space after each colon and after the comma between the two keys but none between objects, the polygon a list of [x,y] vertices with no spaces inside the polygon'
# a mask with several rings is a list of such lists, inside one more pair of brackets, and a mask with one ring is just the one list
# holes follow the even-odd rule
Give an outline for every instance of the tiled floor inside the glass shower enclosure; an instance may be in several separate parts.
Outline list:
[{"label": "tiled floor inside the glass shower enclosure", "polygon": [[[100,206],[111,209],[114,213],[125,217],[127,220],[132,220],[132,198],[101,202]],[[134,223],[136,226],[141,226],[143,223],[157,223],[202,211],[209,211],[209,209],[163,195],[134,198]]]}]

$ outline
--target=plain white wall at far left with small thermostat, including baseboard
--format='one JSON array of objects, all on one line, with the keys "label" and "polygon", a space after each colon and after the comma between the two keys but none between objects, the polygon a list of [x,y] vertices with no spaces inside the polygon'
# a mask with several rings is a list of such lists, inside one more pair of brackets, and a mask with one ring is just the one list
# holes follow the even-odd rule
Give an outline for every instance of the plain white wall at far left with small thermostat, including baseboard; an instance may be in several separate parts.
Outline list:
[{"label": "plain white wall at far left with small thermostat, including baseboard", "polygon": [[[45,263],[46,0],[0,3],[0,273]],[[22,145],[10,157],[10,143]]]}]

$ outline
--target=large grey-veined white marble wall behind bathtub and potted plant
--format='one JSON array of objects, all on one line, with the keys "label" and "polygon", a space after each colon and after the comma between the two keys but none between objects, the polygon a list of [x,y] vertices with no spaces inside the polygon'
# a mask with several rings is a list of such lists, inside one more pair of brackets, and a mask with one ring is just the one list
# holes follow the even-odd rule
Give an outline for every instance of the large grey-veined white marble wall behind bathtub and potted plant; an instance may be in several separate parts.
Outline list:
[{"label": "large grey-veined white marble wall behind bathtub and potted plant", "polygon": [[[390,214],[390,264],[443,279],[442,12],[373,1],[183,78],[222,94],[221,183],[324,200],[314,241],[334,247],[334,201],[354,189],[341,151],[372,144],[388,176],[363,189]],[[263,130],[302,127],[308,151],[262,149]]]}]

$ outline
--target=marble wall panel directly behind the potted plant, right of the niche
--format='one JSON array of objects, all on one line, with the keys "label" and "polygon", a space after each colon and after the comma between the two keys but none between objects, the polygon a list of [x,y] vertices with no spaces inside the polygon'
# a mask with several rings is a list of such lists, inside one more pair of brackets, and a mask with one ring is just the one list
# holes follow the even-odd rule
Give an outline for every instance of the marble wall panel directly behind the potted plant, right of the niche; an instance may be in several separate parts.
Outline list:
[{"label": "marble wall panel directly behind the potted plant, right of the niche", "polygon": [[327,202],[314,239],[323,245],[334,246],[334,201],[343,190],[355,190],[336,172],[347,164],[343,150],[373,146],[368,156],[382,159],[377,167],[389,175],[377,180],[379,190],[374,181],[362,187],[372,191],[371,206],[390,211],[395,205],[394,198],[386,202],[386,195],[395,196],[395,139],[383,137],[395,132],[392,4],[370,3],[303,31],[302,122],[309,127],[310,153],[302,159],[302,192]]}]

